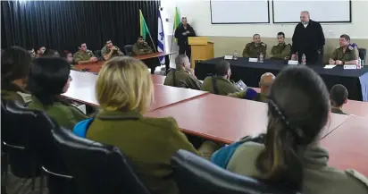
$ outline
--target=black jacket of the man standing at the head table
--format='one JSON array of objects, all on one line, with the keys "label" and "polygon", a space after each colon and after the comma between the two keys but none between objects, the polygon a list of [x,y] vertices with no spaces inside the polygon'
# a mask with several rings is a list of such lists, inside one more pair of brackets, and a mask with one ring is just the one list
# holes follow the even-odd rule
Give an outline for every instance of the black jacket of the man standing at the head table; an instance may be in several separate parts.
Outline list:
[{"label": "black jacket of the man standing at the head table", "polygon": [[324,46],[324,35],[322,26],[317,21],[310,20],[308,26],[304,27],[303,23],[298,23],[293,34],[293,46],[291,53],[295,54],[311,54],[322,51]]}]

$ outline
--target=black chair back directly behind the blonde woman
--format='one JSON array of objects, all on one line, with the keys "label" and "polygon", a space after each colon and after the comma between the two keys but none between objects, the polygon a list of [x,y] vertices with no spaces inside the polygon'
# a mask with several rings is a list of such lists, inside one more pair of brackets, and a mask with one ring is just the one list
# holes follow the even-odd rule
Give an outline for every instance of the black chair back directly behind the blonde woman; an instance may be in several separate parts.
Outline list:
[{"label": "black chair back directly behind the blonde woman", "polygon": [[80,193],[149,193],[119,148],[82,139],[65,130],[55,130],[54,139]]}]

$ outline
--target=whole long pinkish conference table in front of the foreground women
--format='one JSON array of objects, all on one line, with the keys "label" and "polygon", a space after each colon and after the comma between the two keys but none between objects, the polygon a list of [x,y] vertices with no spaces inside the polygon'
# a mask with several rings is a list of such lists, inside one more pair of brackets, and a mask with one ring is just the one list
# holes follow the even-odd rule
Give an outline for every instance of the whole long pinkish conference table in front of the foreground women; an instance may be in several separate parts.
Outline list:
[{"label": "whole long pinkish conference table in front of the foreground women", "polygon": [[[63,97],[98,106],[95,97],[96,74],[71,71],[71,78],[71,87]],[[181,131],[227,144],[266,131],[268,118],[265,103],[164,86],[163,76],[155,78],[153,75],[152,78],[158,80],[155,83],[155,100],[145,116],[171,116],[178,122]],[[368,175],[363,165],[364,159],[367,161],[367,124],[368,119],[364,117],[330,114],[330,120],[321,134],[322,147],[330,151],[330,165],[340,169],[353,167]],[[341,148],[346,145],[348,148]]]}]

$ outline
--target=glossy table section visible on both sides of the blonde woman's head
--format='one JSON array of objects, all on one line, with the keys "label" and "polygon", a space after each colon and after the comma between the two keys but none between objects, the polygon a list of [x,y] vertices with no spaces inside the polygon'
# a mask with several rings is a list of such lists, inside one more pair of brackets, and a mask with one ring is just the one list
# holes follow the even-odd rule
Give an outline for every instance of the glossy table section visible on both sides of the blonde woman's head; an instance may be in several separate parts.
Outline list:
[{"label": "glossy table section visible on both sides of the blonde woman's head", "polygon": [[[97,75],[89,72],[71,71],[70,88],[62,96],[79,103],[98,107],[96,99]],[[162,78],[152,75],[152,79],[161,81]],[[208,95],[208,92],[194,89],[178,89],[162,84],[154,84],[155,98],[149,108],[150,111],[168,105],[175,105],[181,101]]]}]

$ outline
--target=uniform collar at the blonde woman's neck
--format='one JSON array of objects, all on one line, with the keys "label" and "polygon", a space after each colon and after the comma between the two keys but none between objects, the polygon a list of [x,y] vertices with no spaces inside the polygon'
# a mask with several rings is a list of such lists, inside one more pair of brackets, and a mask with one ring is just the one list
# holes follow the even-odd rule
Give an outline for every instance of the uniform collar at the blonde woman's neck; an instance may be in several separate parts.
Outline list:
[{"label": "uniform collar at the blonde woman's neck", "polygon": [[96,118],[100,120],[138,120],[142,117],[142,114],[139,114],[136,111],[122,112],[102,110],[96,115]]}]

